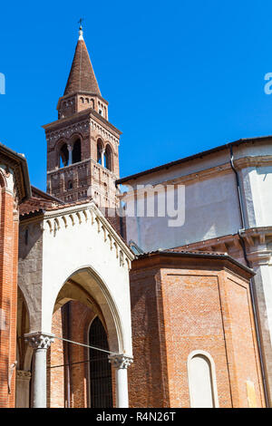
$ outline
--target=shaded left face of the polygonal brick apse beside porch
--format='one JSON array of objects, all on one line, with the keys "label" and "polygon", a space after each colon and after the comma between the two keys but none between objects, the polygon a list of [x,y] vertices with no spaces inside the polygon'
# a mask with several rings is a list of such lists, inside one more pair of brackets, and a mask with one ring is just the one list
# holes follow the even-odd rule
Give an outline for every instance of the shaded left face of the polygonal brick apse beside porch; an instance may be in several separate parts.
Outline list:
[{"label": "shaded left face of the polygonal brick apse beside porch", "polygon": [[157,267],[131,271],[131,326],[134,362],[128,369],[131,407],[168,407],[169,383]]}]

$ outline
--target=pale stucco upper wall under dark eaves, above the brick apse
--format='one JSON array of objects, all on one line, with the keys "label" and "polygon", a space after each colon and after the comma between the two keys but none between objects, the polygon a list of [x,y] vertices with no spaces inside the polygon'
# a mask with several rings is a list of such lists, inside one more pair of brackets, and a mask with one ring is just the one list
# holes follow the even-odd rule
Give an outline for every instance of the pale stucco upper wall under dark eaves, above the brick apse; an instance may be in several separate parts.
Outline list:
[{"label": "pale stucco upper wall under dark eaves, above the brick apse", "polygon": [[[270,141],[245,142],[234,147],[247,228],[272,225],[271,155]],[[262,159],[270,160],[271,165],[261,165]],[[136,189],[137,185],[170,185],[173,182],[186,187],[184,225],[170,228],[168,217],[127,218],[128,241],[133,240],[144,251],[151,251],[236,234],[241,220],[235,174],[229,160],[230,153],[226,149],[128,181],[129,190]],[[131,211],[133,199],[125,200]]]}]

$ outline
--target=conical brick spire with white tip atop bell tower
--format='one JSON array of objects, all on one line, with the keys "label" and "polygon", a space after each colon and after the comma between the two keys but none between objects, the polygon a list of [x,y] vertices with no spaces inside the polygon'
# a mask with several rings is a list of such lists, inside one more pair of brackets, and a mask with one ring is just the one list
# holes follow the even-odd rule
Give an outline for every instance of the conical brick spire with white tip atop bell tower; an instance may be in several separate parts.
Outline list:
[{"label": "conical brick spire with white tip atop bell tower", "polygon": [[91,59],[83,39],[83,27],[80,26],[79,39],[73,56],[73,63],[65,87],[64,95],[74,92],[90,92],[101,96]]}]

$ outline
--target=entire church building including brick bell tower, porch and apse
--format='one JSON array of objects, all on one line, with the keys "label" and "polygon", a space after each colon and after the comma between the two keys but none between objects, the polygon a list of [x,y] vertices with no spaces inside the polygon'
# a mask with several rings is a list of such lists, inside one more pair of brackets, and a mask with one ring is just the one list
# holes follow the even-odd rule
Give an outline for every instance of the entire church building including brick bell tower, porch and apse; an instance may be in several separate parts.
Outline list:
[{"label": "entire church building including brick bell tower, porch and apse", "polygon": [[81,28],[46,193],[0,145],[0,406],[271,406],[271,139],[120,179],[108,106]]}]

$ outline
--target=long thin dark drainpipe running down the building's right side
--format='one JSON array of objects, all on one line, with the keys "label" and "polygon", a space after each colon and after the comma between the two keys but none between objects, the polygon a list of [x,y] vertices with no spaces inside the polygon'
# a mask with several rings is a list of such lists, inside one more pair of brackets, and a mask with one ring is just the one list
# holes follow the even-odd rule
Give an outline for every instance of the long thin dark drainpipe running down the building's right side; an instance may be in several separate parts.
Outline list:
[{"label": "long thin dark drainpipe running down the building's right side", "polygon": [[[245,211],[244,211],[244,207],[243,207],[243,203],[242,203],[240,180],[239,180],[238,170],[234,166],[233,150],[232,150],[231,144],[229,144],[229,151],[230,151],[230,166],[231,166],[231,169],[233,169],[233,171],[234,171],[235,179],[236,179],[239,213],[240,213],[241,226],[242,226],[242,229],[238,229],[238,237],[239,237],[239,241],[240,241],[240,244],[241,244],[241,247],[242,247],[242,250],[243,250],[245,262],[246,262],[248,267],[251,267],[249,260],[248,260],[246,244],[245,244],[243,237],[241,236],[242,230],[244,230],[246,228],[246,219],[245,219]],[[253,283],[252,283],[252,278],[249,279],[249,291],[250,291],[250,297],[251,297],[251,302],[252,302],[254,324],[255,324],[255,329],[256,329],[257,350],[258,350],[258,355],[259,355],[259,360],[260,360],[260,367],[261,367],[261,374],[262,374],[263,385],[264,385],[265,400],[266,400],[267,407],[269,407],[268,392],[267,392],[267,378],[266,378],[266,374],[265,374],[264,359],[263,359],[263,354],[262,354],[262,349],[261,349],[259,326],[258,326],[258,322],[257,322],[256,295],[255,295],[254,286],[253,286]]]}]

